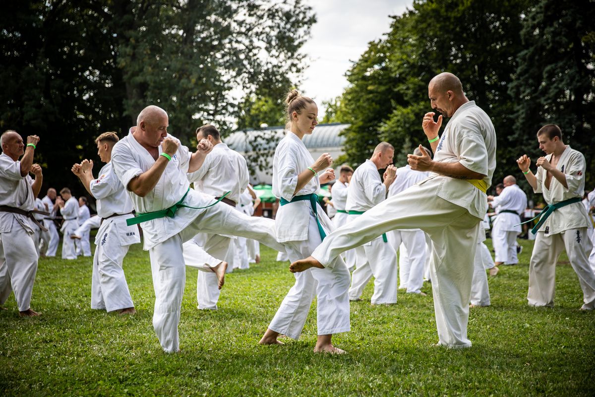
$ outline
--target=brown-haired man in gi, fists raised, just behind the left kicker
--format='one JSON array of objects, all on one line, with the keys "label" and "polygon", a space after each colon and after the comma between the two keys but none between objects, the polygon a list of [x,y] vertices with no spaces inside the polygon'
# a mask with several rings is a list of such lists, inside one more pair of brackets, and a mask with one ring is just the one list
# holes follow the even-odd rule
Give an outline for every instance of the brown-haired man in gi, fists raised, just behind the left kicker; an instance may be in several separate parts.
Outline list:
[{"label": "brown-haired man in gi, fists raised, just behind the left kicker", "polygon": [[134,217],[133,206],[111,163],[112,149],[118,140],[114,132],[102,133],[95,139],[99,158],[105,162],[97,178],[93,177],[93,161],[74,164],[72,171],[97,200],[97,213],[101,217],[95,236],[91,308],[134,314],[122,264],[130,245],[140,243],[140,236],[137,226],[126,225],[126,220]]}]

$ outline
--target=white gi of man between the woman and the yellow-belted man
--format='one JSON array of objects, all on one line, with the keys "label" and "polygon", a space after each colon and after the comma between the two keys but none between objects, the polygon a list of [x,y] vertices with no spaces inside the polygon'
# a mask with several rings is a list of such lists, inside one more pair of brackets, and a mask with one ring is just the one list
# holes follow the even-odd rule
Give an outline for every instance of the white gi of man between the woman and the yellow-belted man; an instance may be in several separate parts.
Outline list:
[{"label": "white gi of man between the woman and the yellow-belted man", "polygon": [[[355,169],[347,188],[347,211],[368,211],[386,199],[386,186],[378,168],[371,160]],[[347,225],[362,215],[349,214]],[[388,240],[388,238],[387,238]],[[355,301],[374,276],[373,305],[393,304],[397,301],[397,254],[393,245],[377,237],[355,249],[357,260],[353,270],[349,299]]]}]

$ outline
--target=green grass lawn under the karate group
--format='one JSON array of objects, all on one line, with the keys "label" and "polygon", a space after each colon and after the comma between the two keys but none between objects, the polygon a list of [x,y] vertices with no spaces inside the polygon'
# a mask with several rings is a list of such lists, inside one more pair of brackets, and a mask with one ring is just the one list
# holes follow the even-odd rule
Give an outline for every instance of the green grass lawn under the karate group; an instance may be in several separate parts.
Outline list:
[{"label": "green grass lawn under the karate group", "polygon": [[[489,244],[489,241],[488,241]],[[120,317],[89,308],[91,264],[42,258],[33,290],[38,318],[0,311],[0,395],[595,395],[595,312],[582,312],[577,276],[563,256],[556,307],[526,301],[532,243],[521,264],[490,277],[492,306],[474,308],[470,349],[437,342],[428,296],[399,293],[371,307],[372,285],[351,305],[352,331],[334,342],[349,354],[312,354],[315,304],[299,341],[258,340],[293,285],[287,264],[263,261],[229,274],[218,311],[196,309],[197,270],[186,268],[180,354],[161,351],[151,324],[154,292],[140,245],[124,262],[138,311]],[[60,252],[60,251],[58,251]]]}]

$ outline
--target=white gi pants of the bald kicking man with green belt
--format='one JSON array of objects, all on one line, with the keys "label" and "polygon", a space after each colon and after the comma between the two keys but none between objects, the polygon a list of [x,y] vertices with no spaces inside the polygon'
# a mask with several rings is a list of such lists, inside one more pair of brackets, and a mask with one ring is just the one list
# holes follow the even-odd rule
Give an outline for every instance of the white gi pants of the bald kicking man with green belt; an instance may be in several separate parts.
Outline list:
[{"label": "white gi pants of the bald kicking man with green belt", "polygon": [[[183,214],[184,208],[179,212]],[[155,290],[153,327],[165,352],[177,352],[180,345],[178,323],[186,284],[183,243],[201,232],[250,237],[277,251],[285,250],[277,243],[273,221],[249,217],[223,203],[198,212],[186,229],[149,249]]]}]

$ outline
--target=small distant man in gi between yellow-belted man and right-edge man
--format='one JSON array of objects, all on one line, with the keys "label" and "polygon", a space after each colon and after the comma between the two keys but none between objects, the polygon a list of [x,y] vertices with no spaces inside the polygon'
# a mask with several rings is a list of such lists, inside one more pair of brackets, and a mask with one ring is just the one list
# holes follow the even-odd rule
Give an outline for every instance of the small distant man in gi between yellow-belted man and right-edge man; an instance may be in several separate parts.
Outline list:
[{"label": "small distant man in gi between yellow-belted man and right-edge man", "polygon": [[491,229],[491,240],[496,252],[496,266],[516,265],[516,236],[521,232],[520,215],[527,208],[527,195],[516,185],[512,175],[505,177],[504,189],[498,196],[487,196],[488,204],[496,210],[497,217]]}]

